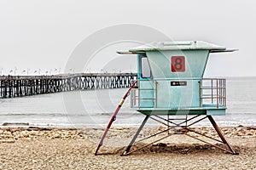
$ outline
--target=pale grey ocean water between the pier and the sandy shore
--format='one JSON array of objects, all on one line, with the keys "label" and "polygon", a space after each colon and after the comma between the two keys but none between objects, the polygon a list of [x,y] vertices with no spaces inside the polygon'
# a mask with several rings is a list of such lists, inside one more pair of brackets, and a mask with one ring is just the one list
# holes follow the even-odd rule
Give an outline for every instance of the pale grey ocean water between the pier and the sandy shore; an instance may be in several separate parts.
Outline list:
[{"label": "pale grey ocean water between the pier and the sandy shore", "polygon": [[[214,119],[222,127],[255,126],[256,77],[226,80],[228,109],[225,116],[214,116]],[[125,91],[125,88],[102,89],[0,99],[0,127],[3,123],[9,126],[26,123],[37,127],[106,127]],[[130,109],[128,97],[113,126],[137,127],[143,117]],[[148,126],[159,125],[148,122]],[[210,126],[207,121],[198,125]]]}]

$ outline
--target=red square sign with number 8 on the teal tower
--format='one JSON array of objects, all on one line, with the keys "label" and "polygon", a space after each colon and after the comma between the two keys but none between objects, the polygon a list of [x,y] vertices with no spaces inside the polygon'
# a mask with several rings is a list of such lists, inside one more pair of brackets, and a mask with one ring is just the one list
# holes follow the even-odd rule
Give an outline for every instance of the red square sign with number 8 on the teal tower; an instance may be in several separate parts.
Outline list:
[{"label": "red square sign with number 8 on the teal tower", "polygon": [[172,56],[172,72],[183,72],[185,68],[184,56]]}]

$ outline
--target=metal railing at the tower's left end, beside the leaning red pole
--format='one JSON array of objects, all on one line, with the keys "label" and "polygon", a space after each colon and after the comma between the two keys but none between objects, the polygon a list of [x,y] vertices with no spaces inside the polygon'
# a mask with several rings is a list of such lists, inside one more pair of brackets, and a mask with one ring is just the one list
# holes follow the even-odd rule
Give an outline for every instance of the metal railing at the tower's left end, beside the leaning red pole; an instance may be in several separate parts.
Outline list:
[{"label": "metal railing at the tower's left end, beside the leaning red pole", "polygon": [[[141,88],[141,82],[151,82],[151,88]],[[131,82],[132,83],[132,82]],[[152,97],[142,97],[142,91],[153,91]],[[144,93],[143,93],[144,94]],[[151,93],[148,93],[151,94]],[[154,80],[137,80],[137,86],[131,89],[131,108],[140,108],[143,100],[152,101],[154,103],[153,107],[157,107],[157,82]]]}]

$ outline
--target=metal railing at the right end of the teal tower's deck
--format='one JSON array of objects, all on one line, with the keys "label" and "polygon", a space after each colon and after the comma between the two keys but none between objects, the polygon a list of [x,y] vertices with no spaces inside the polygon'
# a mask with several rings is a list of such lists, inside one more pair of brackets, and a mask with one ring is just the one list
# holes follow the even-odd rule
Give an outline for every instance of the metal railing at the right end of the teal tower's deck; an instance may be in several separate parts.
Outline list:
[{"label": "metal railing at the right end of the teal tower's deck", "polygon": [[226,80],[218,78],[204,78],[199,82],[200,106],[226,106]]}]

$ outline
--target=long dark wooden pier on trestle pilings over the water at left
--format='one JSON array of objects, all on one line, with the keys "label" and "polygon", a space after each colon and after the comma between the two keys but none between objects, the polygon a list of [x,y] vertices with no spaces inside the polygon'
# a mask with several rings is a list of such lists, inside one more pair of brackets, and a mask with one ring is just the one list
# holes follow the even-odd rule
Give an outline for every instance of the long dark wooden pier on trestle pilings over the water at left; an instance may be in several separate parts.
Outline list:
[{"label": "long dark wooden pier on trestle pilings over the water at left", "polygon": [[137,73],[79,73],[55,76],[1,76],[0,98],[75,90],[129,88]]}]

